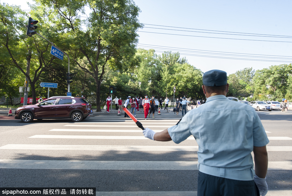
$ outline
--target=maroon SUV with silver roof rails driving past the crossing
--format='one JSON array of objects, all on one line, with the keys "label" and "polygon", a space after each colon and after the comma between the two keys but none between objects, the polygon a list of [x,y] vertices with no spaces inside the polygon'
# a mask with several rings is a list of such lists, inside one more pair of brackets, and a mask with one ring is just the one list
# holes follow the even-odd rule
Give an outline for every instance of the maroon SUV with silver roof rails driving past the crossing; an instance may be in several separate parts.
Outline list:
[{"label": "maroon SUV with silver roof rails driving past the crossing", "polygon": [[33,119],[71,118],[80,122],[93,114],[91,104],[81,97],[55,96],[36,105],[25,105],[15,110],[15,119],[32,122]]}]

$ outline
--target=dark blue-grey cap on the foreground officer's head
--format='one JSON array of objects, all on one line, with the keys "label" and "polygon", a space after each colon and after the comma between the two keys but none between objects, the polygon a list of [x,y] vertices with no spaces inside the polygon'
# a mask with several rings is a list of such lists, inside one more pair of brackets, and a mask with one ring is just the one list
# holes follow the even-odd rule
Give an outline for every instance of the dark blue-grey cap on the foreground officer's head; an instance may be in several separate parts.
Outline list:
[{"label": "dark blue-grey cap on the foreground officer's head", "polygon": [[203,75],[205,86],[223,86],[227,84],[227,73],[221,70],[210,70]]}]

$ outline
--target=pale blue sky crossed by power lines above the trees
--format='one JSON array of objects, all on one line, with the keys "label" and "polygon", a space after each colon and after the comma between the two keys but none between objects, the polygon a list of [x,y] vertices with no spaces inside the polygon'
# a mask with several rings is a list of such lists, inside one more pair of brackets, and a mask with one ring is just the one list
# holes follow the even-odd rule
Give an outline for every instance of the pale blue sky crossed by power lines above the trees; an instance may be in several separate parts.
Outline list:
[{"label": "pale blue sky crossed by power lines above the trees", "polygon": [[[22,6],[22,9],[29,9],[25,0],[0,0],[1,3],[15,4]],[[29,1],[33,3],[33,1]],[[223,1],[223,0],[134,0],[140,7],[139,21],[145,28],[139,30],[139,47],[147,46],[156,51],[167,51],[172,47],[172,52],[178,48],[195,49],[203,51],[220,51],[231,53],[248,53],[259,55],[281,55],[292,56],[292,0],[277,1]],[[291,36],[288,38],[253,37],[239,35],[209,34],[199,32],[184,32],[173,30],[159,30],[146,27],[177,29],[170,27],[159,27],[153,25],[183,27],[192,29],[203,29],[213,31],[241,32],[253,34],[269,34]],[[178,30],[178,29],[177,29]],[[179,29],[199,31],[190,29]],[[140,32],[144,31],[144,32]],[[234,39],[216,39],[203,37],[190,37],[180,35],[167,35],[146,32],[159,32],[168,34],[182,34],[204,37],[221,37],[234,39],[254,39],[269,41],[247,41]],[[201,31],[211,32],[211,31]],[[218,32],[217,32],[218,33]],[[221,32],[222,33],[222,32]],[[270,41],[288,41],[270,42]],[[148,45],[143,45],[148,44]],[[155,45],[155,46],[154,46]],[[163,46],[163,47],[161,47]],[[145,47],[145,48],[147,48]],[[159,49],[160,48],[160,49]],[[249,60],[234,60],[222,58],[199,57],[186,54],[190,52],[180,51],[181,57],[186,57],[188,62],[201,69],[203,72],[212,69],[224,70],[232,74],[245,67],[263,69],[271,65],[290,64],[291,59],[279,60],[280,62],[264,62]],[[214,53],[214,52],[212,52]],[[161,54],[161,52],[157,52]],[[196,54],[198,55],[198,54]],[[206,54],[203,54],[206,55]],[[208,56],[214,56],[208,54]],[[240,57],[249,58],[249,57]],[[256,58],[259,59],[259,58]],[[287,62],[285,62],[287,61]]]}]

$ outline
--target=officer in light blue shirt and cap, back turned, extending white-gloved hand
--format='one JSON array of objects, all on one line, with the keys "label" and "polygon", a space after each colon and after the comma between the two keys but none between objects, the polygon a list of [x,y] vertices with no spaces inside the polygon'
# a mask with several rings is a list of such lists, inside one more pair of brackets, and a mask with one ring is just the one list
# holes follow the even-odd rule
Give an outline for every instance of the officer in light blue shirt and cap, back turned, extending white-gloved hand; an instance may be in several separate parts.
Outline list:
[{"label": "officer in light blue shirt and cap, back turned, extending white-gloved hand", "polygon": [[253,107],[226,98],[228,87],[226,72],[205,72],[202,88],[207,102],[176,125],[159,133],[146,128],[143,134],[177,144],[194,136],[199,145],[198,196],[264,196],[269,140]]}]

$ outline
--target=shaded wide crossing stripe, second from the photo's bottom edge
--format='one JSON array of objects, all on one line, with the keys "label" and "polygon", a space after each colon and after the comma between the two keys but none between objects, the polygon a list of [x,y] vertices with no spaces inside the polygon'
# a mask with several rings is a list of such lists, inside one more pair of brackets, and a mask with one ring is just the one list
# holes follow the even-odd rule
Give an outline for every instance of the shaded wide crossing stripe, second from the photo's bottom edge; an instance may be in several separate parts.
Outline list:
[{"label": "shaded wide crossing stripe, second from the photo's bottom edge", "polygon": [[[198,170],[197,161],[57,161],[0,159],[0,169]],[[268,162],[268,170],[292,170],[290,161]]]}]

